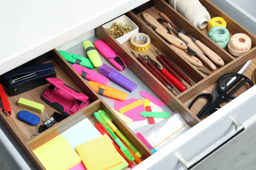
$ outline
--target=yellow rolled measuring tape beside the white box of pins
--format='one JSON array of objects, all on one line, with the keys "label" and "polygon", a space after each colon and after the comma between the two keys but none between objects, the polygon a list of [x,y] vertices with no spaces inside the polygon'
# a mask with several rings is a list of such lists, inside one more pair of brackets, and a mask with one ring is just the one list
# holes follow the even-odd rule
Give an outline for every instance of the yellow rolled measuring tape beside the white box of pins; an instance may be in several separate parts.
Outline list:
[{"label": "yellow rolled measuring tape beside the white box of pins", "polygon": [[150,37],[145,33],[135,33],[131,36],[131,48],[137,52],[144,52],[150,48]]}]

